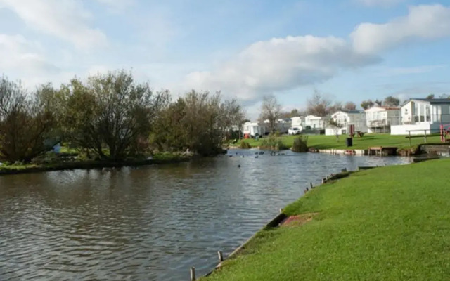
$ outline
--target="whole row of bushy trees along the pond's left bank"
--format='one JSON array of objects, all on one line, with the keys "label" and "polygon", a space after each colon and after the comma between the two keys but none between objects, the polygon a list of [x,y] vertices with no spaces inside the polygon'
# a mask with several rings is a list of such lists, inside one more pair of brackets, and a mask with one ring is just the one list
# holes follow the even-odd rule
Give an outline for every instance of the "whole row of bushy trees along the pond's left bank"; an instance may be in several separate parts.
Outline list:
[{"label": "whole row of bushy trees along the pond's left bank", "polygon": [[236,100],[220,93],[193,90],[172,100],[169,91],[153,91],[124,70],[31,92],[3,76],[0,159],[30,162],[60,142],[103,160],[141,157],[154,149],[213,155],[244,117]]}]

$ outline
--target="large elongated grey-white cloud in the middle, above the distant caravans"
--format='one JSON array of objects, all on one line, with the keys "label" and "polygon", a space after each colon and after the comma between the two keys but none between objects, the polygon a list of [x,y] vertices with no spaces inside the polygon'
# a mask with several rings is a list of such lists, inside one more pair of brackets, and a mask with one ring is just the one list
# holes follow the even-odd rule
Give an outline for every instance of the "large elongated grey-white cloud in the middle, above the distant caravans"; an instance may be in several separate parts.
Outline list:
[{"label": "large elongated grey-white cloud in the middle, above the distant caravans", "polygon": [[186,85],[221,90],[227,96],[255,101],[259,96],[330,79],[340,70],[378,62],[373,55],[355,53],[336,37],[286,37],[259,41],[231,62],[212,72],[188,74]]}]

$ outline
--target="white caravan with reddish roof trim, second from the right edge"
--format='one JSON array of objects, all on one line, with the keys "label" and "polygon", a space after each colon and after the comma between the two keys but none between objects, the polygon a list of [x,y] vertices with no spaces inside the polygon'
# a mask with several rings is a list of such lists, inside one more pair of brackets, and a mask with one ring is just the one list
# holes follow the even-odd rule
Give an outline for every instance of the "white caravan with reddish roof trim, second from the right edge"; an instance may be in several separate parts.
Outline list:
[{"label": "white caravan with reddish roof trim, second from the right edge", "polygon": [[400,108],[375,105],[366,111],[368,133],[390,133],[392,125],[400,124]]}]

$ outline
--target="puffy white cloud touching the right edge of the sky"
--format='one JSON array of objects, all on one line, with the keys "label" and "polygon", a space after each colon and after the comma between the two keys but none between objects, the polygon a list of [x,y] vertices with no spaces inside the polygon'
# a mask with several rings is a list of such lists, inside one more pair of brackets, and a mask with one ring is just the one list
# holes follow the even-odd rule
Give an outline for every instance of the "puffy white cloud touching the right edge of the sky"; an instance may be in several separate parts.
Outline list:
[{"label": "puffy white cloud touching the right edge of the sky", "polygon": [[362,23],[350,35],[360,53],[378,53],[417,39],[450,36],[450,8],[436,5],[409,7],[405,17],[385,24]]}]

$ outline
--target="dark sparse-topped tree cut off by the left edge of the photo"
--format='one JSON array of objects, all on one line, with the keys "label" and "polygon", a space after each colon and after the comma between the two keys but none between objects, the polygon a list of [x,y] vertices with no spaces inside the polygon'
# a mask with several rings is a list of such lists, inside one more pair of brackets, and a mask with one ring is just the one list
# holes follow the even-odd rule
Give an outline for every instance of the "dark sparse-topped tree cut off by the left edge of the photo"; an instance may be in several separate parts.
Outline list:
[{"label": "dark sparse-topped tree cut off by the left edge of the photo", "polygon": [[20,83],[0,80],[0,159],[8,162],[30,162],[52,148],[48,143],[55,124],[46,94],[51,85],[39,86],[30,94]]}]

